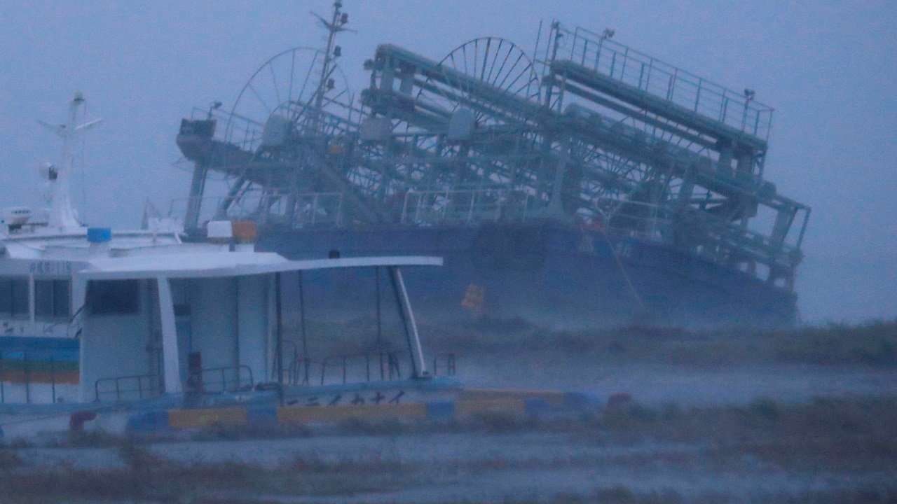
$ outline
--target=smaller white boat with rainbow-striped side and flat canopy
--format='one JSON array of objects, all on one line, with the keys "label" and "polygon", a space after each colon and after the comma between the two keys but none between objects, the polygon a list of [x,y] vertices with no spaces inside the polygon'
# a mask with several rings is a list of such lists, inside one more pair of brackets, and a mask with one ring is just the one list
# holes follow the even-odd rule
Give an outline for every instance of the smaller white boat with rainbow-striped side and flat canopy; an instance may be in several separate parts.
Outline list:
[{"label": "smaller white boat with rainbow-striped side and flat canopy", "polygon": [[[203,242],[185,242],[164,220],[145,230],[87,227],[69,194],[74,146],[100,122],[79,124],[83,115],[78,92],[65,124],[44,123],[64,145],[63,163],[41,170],[50,207],[0,212],[0,438],[98,418],[123,429],[135,414],[167,421],[179,408],[209,421],[196,410],[254,404],[275,419],[277,405],[357,406],[371,396],[374,405],[423,407],[459,389],[435,376],[454,374],[453,355],[432,356],[429,368],[403,280],[405,271],[441,265],[440,257],[291,261],[256,251],[252,222],[210,222]],[[376,335],[365,335],[368,352],[347,353],[343,342],[339,353],[323,353],[332,347],[316,345],[304,327],[296,341],[283,337],[291,282],[301,291],[304,274],[356,269],[383,277],[370,299],[395,305],[378,313]],[[391,414],[362,413],[371,411]],[[294,420],[334,418],[309,415]]]}]

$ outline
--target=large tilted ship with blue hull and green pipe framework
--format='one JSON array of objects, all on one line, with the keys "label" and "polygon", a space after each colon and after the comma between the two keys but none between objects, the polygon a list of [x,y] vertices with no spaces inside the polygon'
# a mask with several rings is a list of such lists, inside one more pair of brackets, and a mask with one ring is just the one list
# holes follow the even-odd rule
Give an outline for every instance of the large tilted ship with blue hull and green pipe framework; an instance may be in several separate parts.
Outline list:
[{"label": "large tilted ship with blue hull and green pipe framework", "polygon": [[[270,58],[181,121],[187,235],[251,220],[291,259],[442,256],[408,274],[423,323],[788,326],[809,221],[764,178],[773,109],[601,33],[540,25],[527,54],[382,44],[349,91],[337,36]],[[369,276],[309,276],[311,302]],[[358,301],[344,317],[367,313]]]}]

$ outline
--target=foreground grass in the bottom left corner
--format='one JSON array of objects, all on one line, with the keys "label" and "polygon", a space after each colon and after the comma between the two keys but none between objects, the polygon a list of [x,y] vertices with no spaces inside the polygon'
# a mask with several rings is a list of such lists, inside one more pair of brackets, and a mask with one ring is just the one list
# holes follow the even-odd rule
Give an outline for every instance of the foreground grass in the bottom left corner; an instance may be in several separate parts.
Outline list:
[{"label": "foreground grass in the bottom left corner", "polygon": [[401,488],[414,477],[411,467],[382,461],[297,459],[265,468],[222,462],[179,464],[135,444],[119,455],[124,469],[52,468],[0,472],[3,502],[72,502],[79,500],[152,500],[212,502],[221,494],[351,495]]}]

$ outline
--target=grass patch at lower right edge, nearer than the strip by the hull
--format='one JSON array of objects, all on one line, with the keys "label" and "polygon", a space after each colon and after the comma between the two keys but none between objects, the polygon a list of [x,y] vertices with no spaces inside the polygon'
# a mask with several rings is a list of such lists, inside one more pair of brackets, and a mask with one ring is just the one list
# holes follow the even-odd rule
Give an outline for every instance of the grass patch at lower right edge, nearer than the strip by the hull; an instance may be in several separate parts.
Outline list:
[{"label": "grass patch at lower right edge, nearer than the strip by the hull", "polygon": [[769,399],[745,407],[638,403],[607,409],[593,421],[595,442],[658,439],[706,442],[727,466],[745,454],[796,470],[897,472],[897,397],[817,399],[779,404]]}]

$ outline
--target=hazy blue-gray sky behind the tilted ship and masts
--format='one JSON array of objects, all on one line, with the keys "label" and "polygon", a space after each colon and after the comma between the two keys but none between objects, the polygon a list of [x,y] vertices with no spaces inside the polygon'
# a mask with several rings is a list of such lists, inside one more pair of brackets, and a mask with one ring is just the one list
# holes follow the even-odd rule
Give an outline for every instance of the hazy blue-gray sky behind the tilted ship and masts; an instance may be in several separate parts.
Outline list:
[{"label": "hazy blue-gray sky behind the tilted ship and masts", "polygon": [[[92,117],[86,216],[135,226],[143,201],[184,197],[179,120],[213,100],[229,109],[270,56],[320,47],[309,14],[331,2],[268,0],[0,3],[0,206],[37,204],[37,167],[59,161],[36,120],[61,122],[74,91]],[[340,39],[352,91],[361,62],[390,42],[440,59],[480,36],[532,53],[540,20],[613,27],[615,40],[777,109],[766,176],[813,207],[798,270],[814,323],[897,317],[897,4],[893,2],[345,0]],[[81,174],[74,200],[83,206]]]}]

